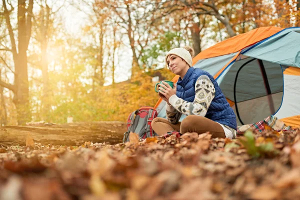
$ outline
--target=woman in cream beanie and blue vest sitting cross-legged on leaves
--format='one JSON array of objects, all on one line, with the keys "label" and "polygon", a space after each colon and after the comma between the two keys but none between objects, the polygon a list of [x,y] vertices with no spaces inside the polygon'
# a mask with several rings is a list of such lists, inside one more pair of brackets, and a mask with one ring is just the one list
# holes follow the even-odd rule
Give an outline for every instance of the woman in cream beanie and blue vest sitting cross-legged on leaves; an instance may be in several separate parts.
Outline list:
[{"label": "woman in cream beanie and blue vest sitting cross-legged on leaves", "polygon": [[[169,69],[179,75],[174,88],[159,84],[159,96],[166,101],[166,119],[156,117],[151,125],[158,135],[171,131],[209,131],[212,137],[236,137],[236,117],[214,78],[192,67],[193,49],[173,48],[165,55]],[[179,122],[181,114],[187,115]]]}]

